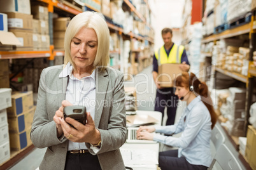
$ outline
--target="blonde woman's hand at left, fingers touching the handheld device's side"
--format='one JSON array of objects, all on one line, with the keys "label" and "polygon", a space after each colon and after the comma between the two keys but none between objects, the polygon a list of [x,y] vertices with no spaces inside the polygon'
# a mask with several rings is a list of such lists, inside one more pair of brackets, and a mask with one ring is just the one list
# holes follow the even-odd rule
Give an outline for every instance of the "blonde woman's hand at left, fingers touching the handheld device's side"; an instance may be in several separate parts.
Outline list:
[{"label": "blonde woman's hand at left, fingers touching the handheld device's side", "polygon": [[57,137],[59,138],[63,134],[63,130],[61,128],[60,121],[63,119],[63,108],[66,106],[71,106],[72,104],[68,100],[63,100],[62,101],[62,106],[55,112],[55,115],[53,117],[53,121],[56,124],[57,128]]}]

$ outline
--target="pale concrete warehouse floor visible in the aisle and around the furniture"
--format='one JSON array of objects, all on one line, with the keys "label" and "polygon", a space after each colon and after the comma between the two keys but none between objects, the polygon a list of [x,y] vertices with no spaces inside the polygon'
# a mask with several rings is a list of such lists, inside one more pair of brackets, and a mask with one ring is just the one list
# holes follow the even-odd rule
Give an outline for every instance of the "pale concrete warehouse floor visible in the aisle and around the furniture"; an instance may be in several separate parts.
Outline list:
[{"label": "pale concrete warehouse floor visible in the aisle and around the furniture", "polygon": [[[125,81],[125,87],[136,87],[137,90],[137,100],[139,103],[138,110],[153,110],[153,101],[155,100],[155,85],[152,79],[152,67],[148,67],[144,69],[141,73],[134,76],[132,81]],[[181,115],[181,112],[185,108],[185,103],[182,103],[181,107],[178,107],[177,113],[176,113],[176,120]],[[164,115],[164,122],[166,122],[166,115]],[[217,125],[220,127],[220,124],[217,122]],[[238,158],[238,152],[232,145],[231,141],[229,141],[228,136],[226,135],[224,129],[222,129],[222,132],[225,136],[225,144],[229,147],[231,152],[234,154],[234,156],[238,159],[238,162],[241,164],[241,167],[245,169],[243,164]],[[215,148],[211,146],[212,152],[215,153]],[[166,145],[160,145],[160,151],[173,149],[173,147],[167,147]],[[34,170],[36,169],[41,160],[43,159],[43,155],[45,154],[46,148],[39,149],[35,148],[32,150],[30,154],[28,154],[24,159],[20,160],[17,164],[15,164],[13,167],[10,168],[10,170]],[[215,168],[218,169],[218,168]],[[218,169],[219,170],[219,169]]]}]

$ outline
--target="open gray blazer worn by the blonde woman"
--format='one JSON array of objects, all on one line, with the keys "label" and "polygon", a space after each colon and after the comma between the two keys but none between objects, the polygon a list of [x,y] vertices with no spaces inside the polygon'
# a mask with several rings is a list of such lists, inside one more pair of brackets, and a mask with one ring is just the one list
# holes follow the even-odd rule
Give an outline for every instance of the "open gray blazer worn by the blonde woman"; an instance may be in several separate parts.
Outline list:
[{"label": "open gray blazer worn by the blonde woman", "polygon": [[[68,77],[59,78],[63,65],[48,67],[41,73],[38,103],[32,123],[31,140],[35,147],[47,147],[40,170],[64,169],[68,140],[57,138],[53,116],[66,98]],[[101,133],[101,148],[97,152],[102,169],[125,169],[119,148],[126,140],[124,75],[111,68],[100,72],[96,69],[95,125]],[[96,155],[90,144],[89,152]]]}]

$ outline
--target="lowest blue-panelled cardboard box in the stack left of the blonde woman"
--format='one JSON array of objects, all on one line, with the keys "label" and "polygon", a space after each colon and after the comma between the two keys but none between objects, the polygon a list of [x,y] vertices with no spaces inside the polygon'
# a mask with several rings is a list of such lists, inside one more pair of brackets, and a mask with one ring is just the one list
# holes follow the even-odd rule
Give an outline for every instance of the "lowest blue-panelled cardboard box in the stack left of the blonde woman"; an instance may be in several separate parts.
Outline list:
[{"label": "lowest blue-panelled cardboard box in the stack left of the blonde woman", "polygon": [[11,150],[22,150],[25,147],[29,147],[32,144],[30,133],[31,127],[22,133],[9,132]]}]

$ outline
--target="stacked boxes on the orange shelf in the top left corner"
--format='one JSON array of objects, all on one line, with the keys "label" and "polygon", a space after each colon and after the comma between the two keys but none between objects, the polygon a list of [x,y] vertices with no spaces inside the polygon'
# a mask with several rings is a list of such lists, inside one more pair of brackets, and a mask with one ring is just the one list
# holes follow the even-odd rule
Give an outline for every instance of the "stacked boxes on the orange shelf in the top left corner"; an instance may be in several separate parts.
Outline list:
[{"label": "stacked boxes on the orange shelf in the top left corner", "polygon": [[[43,51],[50,49],[48,8],[39,5],[31,6],[29,0],[0,0],[0,3],[0,12],[5,13],[8,18],[8,30],[12,32],[19,41],[18,43],[12,44],[16,45],[14,48],[13,46],[8,46],[8,48],[2,47],[0,49],[4,51]],[[31,12],[33,15],[31,15]],[[33,16],[35,20],[33,20]],[[3,36],[1,37],[3,39]],[[5,39],[10,39],[10,36],[5,36]],[[0,41],[2,42],[3,40]]]}]

